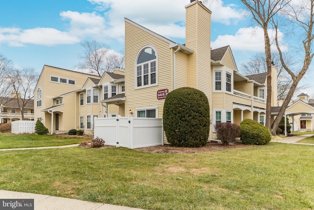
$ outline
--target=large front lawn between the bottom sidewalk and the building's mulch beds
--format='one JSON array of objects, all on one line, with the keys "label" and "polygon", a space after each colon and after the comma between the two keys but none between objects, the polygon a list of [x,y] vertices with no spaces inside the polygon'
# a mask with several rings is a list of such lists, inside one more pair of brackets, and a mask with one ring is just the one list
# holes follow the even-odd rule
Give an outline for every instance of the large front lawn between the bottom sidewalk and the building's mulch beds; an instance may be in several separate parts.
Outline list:
[{"label": "large front lawn between the bottom sidewalk and the building's mulch beds", "polygon": [[313,209],[313,154],[280,143],[196,154],[0,151],[0,189],[149,210]]}]

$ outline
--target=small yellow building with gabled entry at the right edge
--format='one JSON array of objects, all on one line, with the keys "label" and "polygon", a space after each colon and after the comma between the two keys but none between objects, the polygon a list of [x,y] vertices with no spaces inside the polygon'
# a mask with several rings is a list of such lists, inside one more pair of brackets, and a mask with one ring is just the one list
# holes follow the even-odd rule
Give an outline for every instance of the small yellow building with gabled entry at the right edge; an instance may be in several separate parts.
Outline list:
[{"label": "small yellow building with gabled entry at the right edge", "polygon": [[[272,112],[277,114],[278,111],[277,113],[276,111]],[[308,94],[302,92],[297,96],[297,100],[287,107],[285,116],[289,117],[291,132],[292,129],[294,131],[313,131],[314,99],[310,99]]]}]

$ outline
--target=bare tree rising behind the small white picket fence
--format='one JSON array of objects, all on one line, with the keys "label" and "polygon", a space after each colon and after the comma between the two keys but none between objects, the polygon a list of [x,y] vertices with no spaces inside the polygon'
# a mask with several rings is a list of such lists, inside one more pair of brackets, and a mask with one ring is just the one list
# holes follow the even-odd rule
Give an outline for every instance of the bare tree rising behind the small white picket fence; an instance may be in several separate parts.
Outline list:
[{"label": "bare tree rising behind the small white picket fence", "polygon": [[8,75],[12,92],[16,95],[16,101],[21,112],[21,120],[24,120],[24,108],[34,97],[32,95],[38,80],[38,74],[34,68],[23,68],[22,70],[12,71]]}]

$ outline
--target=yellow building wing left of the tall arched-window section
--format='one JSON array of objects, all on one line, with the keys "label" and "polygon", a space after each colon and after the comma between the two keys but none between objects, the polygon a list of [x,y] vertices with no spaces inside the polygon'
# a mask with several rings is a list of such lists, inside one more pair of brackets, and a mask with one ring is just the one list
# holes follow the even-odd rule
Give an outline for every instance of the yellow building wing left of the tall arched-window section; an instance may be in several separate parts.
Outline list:
[{"label": "yellow building wing left of the tall arched-window section", "polygon": [[118,106],[100,102],[122,91],[124,72],[114,72],[99,77],[44,65],[34,91],[35,120],[41,120],[51,133],[83,129],[92,134],[95,118],[124,114]]}]

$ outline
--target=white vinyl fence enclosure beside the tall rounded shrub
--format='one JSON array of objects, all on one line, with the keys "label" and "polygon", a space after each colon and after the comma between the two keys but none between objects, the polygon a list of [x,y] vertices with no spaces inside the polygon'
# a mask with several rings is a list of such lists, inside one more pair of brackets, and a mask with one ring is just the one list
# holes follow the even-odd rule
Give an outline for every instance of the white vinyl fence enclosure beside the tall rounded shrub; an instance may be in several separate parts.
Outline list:
[{"label": "white vinyl fence enclosure beside the tall rounded shrub", "polygon": [[161,118],[96,118],[94,137],[105,140],[105,145],[130,149],[163,145]]}]

